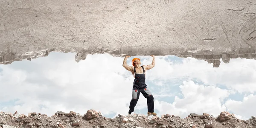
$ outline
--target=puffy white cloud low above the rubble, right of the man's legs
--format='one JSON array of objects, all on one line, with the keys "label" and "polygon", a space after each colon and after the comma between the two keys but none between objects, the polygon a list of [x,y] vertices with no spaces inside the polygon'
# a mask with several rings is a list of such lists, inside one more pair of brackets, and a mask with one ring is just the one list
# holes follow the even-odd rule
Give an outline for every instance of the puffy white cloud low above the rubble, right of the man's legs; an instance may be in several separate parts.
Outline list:
[{"label": "puffy white cloud low above the rubble, right of the man's legs", "polygon": [[183,98],[175,96],[172,104],[156,102],[160,114],[168,112],[183,118],[189,113],[209,113],[218,116],[221,111],[226,111],[226,107],[221,105],[223,99],[232,93],[214,86],[195,84],[193,81],[184,81],[183,85],[180,85],[180,90]]}]

